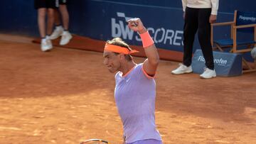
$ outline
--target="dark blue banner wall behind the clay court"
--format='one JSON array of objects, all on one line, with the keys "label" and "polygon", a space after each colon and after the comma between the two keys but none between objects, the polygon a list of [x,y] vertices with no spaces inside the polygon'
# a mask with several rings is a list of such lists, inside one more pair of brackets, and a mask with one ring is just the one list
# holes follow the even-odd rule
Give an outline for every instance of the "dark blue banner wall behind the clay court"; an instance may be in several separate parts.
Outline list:
[{"label": "dark blue banner wall behind the clay court", "polygon": [[[255,11],[255,0],[220,1],[217,22],[233,21],[235,10]],[[139,17],[157,48],[183,52],[183,11],[181,0],[76,0],[69,1],[70,32],[96,40],[121,37],[131,45],[142,45],[137,33],[127,27],[127,19]],[[33,0],[1,1],[0,33],[39,36]],[[214,28],[214,38],[230,38],[230,28]],[[239,35],[248,39],[251,35]],[[197,36],[194,50],[200,48]],[[247,59],[252,60],[250,55]]]}]

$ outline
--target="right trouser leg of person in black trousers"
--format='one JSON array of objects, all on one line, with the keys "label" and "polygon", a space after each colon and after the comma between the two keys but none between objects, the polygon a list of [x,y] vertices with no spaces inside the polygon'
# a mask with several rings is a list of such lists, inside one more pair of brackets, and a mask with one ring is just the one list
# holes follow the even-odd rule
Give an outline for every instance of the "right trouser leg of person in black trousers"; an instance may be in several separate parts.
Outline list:
[{"label": "right trouser leg of person in black trousers", "polygon": [[210,12],[211,9],[200,9],[198,13],[198,40],[201,45],[206,67],[214,70],[213,48],[210,43]]}]

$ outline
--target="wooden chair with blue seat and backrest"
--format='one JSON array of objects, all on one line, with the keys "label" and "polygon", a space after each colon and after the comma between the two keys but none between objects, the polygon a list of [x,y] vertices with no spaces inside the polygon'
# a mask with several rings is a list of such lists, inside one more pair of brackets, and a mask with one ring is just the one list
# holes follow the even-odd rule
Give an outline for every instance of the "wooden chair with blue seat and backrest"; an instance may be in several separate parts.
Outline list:
[{"label": "wooden chair with blue seat and backrest", "polygon": [[[230,26],[230,38],[213,40],[213,27],[214,26]],[[239,32],[239,33],[238,33]],[[242,33],[251,33],[254,40],[238,40],[237,35]],[[256,46],[256,13],[255,12],[243,12],[235,11],[234,21],[224,23],[211,24],[210,41],[213,45],[213,50],[224,51],[225,48],[230,48],[229,52],[245,53],[250,52],[253,47]],[[242,63],[245,65],[246,70],[242,72],[256,72],[256,60],[255,67],[251,67],[245,58],[242,58]]]}]

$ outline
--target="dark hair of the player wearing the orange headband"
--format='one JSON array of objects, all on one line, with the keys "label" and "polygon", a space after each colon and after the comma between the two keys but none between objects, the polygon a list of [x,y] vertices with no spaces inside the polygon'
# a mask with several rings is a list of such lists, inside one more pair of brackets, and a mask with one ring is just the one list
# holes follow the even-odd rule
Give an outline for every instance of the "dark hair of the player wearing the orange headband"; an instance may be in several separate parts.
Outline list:
[{"label": "dark hair of the player wearing the orange headband", "polygon": [[[129,48],[129,45],[122,40],[122,38],[113,38],[112,40],[107,40],[107,43],[110,45],[118,45],[120,47],[127,48],[129,51],[132,50],[131,48]],[[116,53],[116,52],[114,52],[114,53]],[[119,53],[116,53],[116,55],[118,55],[118,54]],[[131,55],[124,55],[124,57],[128,61],[132,60]]]}]

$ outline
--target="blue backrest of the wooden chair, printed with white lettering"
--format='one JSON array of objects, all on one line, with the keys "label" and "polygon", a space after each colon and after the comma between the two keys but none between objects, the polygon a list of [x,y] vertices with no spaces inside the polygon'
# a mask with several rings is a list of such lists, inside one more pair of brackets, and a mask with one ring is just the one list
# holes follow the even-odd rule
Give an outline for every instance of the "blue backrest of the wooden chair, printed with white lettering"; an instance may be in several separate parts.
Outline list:
[{"label": "blue backrest of the wooden chair, printed with white lettering", "polygon": [[[256,13],[255,12],[245,12],[245,11],[235,11],[235,25],[248,25],[256,23]],[[254,28],[239,28],[238,31],[253,33]]]}]

